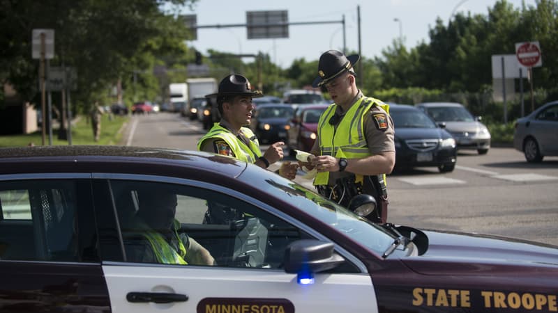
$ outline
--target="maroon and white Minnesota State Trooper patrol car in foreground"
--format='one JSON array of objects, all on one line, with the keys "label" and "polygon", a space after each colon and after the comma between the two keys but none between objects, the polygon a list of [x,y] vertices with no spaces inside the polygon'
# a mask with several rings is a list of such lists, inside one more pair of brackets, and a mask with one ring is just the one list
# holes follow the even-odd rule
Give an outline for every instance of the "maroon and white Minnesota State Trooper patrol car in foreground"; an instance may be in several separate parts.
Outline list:
[{"label": "maroon and white Minnesota State Trooper patrol car in foreground", "polygon": [[[215,264],[130,253],[149,248],[128,229],[137,195],[160,188]],[[556,246],[371,223],[216,154],[3,148],[0,204],[0,312],[558,310]]]}]

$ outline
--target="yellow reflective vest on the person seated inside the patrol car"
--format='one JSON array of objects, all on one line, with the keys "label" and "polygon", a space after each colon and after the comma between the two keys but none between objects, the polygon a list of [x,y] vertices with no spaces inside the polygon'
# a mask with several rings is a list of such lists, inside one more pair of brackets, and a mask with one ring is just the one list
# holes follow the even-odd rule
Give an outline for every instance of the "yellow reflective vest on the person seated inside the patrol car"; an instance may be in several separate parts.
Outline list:
[{"label": "yellow reflective vest on the person seated inside the patrol car", "polygon": [[188,262],[184,259],[186,257],[186,247],[182,243],[178,230],[180,228],[180,223],[178,220],[174,220],[174,236],[178,241],[179,251],[174,250],[172,246],[165,240],[162,234],[154,230],[146,230],[143,232],[143,236],[149,241],[155,256],[157,257],[157,262],[162,264],[181,264],[186,265]]}]

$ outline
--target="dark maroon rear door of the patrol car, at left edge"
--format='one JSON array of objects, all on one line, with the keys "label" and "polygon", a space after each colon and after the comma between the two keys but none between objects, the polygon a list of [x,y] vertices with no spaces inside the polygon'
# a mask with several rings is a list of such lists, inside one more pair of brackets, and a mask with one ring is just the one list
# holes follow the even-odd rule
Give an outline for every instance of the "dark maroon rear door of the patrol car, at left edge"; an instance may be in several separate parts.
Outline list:
[{"label": "dark maroon rear door of the patrol car, at left edge", "polygon": [[0,312],[109,312],[89,175],[0,175]]}]

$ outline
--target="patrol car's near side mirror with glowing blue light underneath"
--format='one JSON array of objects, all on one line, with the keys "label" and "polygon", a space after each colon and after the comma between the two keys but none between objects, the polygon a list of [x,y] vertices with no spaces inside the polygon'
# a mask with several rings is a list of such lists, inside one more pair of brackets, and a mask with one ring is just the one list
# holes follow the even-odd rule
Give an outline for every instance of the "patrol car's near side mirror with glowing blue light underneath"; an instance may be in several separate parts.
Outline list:
[{"label": "patrol car's near side mirror with glowing blue light underneath", "polygon": [[284,269],[286,273],[299,274],[299,278],[327,271],[345,262],[335,253],[333,243],[314,239],[294,241],[285,248]]}]

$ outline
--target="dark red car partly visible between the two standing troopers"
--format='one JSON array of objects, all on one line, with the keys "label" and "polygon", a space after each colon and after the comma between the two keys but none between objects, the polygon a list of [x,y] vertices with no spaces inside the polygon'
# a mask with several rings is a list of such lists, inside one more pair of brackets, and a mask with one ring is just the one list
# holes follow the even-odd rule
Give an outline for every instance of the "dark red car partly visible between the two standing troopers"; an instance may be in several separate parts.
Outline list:
[{"label": "dark red car partly visible between the two standing troopers", "polygon": [[316,140],[319,115],[326,111],[329,104],[306,104],[298,106],[287,131],[287,147],[309,152]]}]

